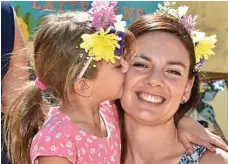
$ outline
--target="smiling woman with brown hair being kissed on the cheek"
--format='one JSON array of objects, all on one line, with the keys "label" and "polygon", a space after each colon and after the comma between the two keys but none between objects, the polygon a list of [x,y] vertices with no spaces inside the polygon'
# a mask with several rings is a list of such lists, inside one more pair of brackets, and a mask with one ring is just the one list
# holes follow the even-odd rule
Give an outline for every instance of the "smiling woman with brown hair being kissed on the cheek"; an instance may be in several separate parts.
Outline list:
[{"label": "smiling woman with brown hair being kissed on the cheek", "polygon": [[122,142],[123,163],[228,163],[221,149],[212,153],[194,145],[194,152],[186,153],[177,136],[176,125],[195,107],[199,90],[187,29],[171,17],[148,15],[129,30],[136,37],[136,55],[129,61],[121,99],[127,141]]}]

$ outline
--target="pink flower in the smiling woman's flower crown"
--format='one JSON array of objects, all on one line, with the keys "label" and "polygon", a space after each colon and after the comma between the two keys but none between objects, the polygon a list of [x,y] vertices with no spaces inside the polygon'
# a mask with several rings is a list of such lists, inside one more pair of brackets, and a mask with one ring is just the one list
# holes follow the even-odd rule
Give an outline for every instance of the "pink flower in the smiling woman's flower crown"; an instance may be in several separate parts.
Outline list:
[{"label": "pink flower in the smiling woman's flower crown", "polygon": [[188,30],[188,32],[192,32],[195,29],[197,15],[194,17],[192,15],[184,15],[181,19],[181,23]]}]

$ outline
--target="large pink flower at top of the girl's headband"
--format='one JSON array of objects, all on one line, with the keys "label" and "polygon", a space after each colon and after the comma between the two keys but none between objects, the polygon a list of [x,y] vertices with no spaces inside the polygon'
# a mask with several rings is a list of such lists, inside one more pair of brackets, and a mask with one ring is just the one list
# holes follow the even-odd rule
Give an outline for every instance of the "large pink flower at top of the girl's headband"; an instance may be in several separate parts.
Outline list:
[{"label": "large pink flower at top of the girl's headband", "polygon": [[107,29],[109,26],[114,26],[116,22],[116,5],[117,2],[94,1],[89,11],[93,17],[92,27],[100,30],[101,28]]}]

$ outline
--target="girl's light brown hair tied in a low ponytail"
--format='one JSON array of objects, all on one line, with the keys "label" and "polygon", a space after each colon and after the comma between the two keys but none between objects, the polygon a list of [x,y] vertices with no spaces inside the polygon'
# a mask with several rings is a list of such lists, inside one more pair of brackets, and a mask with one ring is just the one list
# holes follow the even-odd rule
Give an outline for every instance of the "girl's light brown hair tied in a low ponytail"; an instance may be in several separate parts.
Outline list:
[{"label": "girl's light brown hair tied in a low ponytail", "polygon": [[[74,81],[87,61],[86,52],[80,48],[80,44],[82,34],[95,32],[90,20],[86,12],[48,15],[43,18],[35,36],[35,73],[54,97],[62,102],[69,102]],[[127,32],[125,38],[126,45],[130,46]],[[96,69],[89,67],[83,77],[93,78],[95,75]],[[32,139],[47,113],[42,94],[43,91],[35,86],[34,81],[29,82],[6,115],[4,133],[12,164],[31,163],[29,154]]]}]

